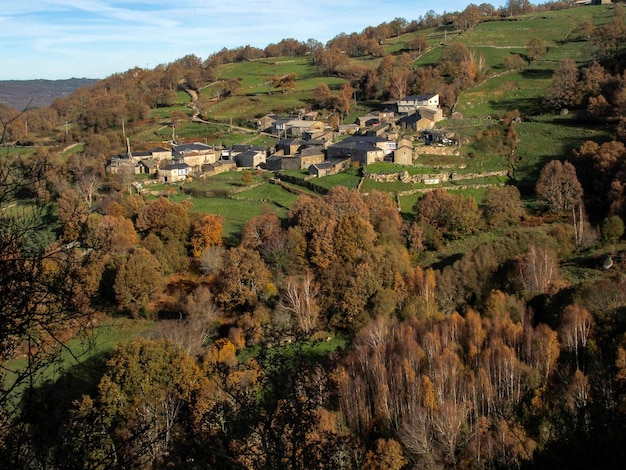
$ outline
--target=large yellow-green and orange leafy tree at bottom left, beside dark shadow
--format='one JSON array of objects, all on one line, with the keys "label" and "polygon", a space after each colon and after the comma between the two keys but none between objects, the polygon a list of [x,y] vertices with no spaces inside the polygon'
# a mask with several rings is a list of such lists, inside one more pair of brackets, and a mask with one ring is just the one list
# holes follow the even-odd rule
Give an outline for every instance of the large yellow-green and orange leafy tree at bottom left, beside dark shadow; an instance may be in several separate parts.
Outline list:
[{"label": "large yellow-green and orange leafy tree at bottom left, beside dark shadow", "polygon": [[81,464],[138,468],[175,458],[176,443],[190,438],[191,410],[203,385],[193,359],[173,343],[118,345],[97,399],[85,397],[74,410],[71,444]]}]

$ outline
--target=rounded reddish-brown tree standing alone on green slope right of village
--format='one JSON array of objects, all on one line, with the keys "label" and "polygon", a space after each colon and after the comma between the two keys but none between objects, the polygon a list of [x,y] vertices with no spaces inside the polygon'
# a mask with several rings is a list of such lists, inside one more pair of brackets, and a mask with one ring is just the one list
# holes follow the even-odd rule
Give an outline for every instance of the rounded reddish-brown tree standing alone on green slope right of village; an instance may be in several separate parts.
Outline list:
[{"label": "rounded reddish-brown tree standing alone on green slope right of village", "polygon": [[571,210],[583,197],[574,165],[560,160],[552,160],[543,167],[535,190],[548,210],[555,213]]}]

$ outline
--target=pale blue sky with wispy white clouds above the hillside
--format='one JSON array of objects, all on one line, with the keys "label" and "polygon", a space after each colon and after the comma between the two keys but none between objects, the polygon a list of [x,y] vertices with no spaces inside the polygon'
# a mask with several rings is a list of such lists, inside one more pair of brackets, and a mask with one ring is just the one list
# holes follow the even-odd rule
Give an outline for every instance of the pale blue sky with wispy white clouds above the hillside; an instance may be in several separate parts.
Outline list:
[{"label": "pale blue sky with wispy white clouds above the hillside", "polygon": [[[488,2],[499,7],[505,0]],[[104,78],[187,54],[264,48],[284,38],[326,43],[396,17],[462,11],[470,0],[5,0],[0,80]],[[475,2],[482,3],[480,1]]]}]

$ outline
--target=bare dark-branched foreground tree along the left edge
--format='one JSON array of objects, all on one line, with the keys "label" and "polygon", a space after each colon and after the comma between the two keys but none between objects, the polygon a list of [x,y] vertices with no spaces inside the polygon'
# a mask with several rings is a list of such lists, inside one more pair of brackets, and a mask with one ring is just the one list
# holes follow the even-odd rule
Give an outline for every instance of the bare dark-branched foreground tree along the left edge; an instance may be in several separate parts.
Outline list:
[{"label": "bare dark-branched foreground tree along the left edge", "polygon": [[[76,244],[57,240],[54,206],[37,197],[51,170],[47,157],[0,155],[0,465],[7,468],[41,463],[29,461],[35,456],[26,439],[28,417],[40,412],[42,371],[60,367],[66,343],[87,335],[93,319],[87,261]],[[19,365],[9,361],[16,356]]]}]

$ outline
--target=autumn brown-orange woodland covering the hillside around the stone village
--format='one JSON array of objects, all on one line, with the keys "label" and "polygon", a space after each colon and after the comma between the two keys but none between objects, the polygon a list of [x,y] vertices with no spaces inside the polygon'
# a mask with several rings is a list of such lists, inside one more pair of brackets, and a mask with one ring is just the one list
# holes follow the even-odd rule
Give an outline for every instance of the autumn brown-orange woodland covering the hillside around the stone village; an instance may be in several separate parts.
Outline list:
[{"label": "autumn brown-orange woodland covering the hillside around the stone village", "polygon": [[[548,79],[533,69],[558,49],[546,39],[498,56],[498,74],[463,42],[481,25],[556,25],[549,15],[569,11],[587,55],[551,58]],[[451,42],[419,65],[442,32]],[[363,111],[355,96],[438,93],[458,122],[461,98],[490,78],[547,86],[534,101],[505,96],[459,143],[468,162],[509,167],[480,197],[437,187],[400,211],[383,190],[300,190],[225,236],[225,216],[193,198],[105,173],[127,135],[148,148],[150,126],[293,99],[296,75],[270,77],[261,98],[246,94],[255,77],[228,69],[284,56],[311,61],[322,81],[299,104],[331,127]],[[625,68],[621,4],[510,0],[325,45],[190,55],[50,107],[0,106],[0,466],[622,468]],[[181,106],[190,90],[197,109]],[[518,126],[542,119],[600,130],[529,165]],[[191,138],[215,138],[203,132]]]}]

